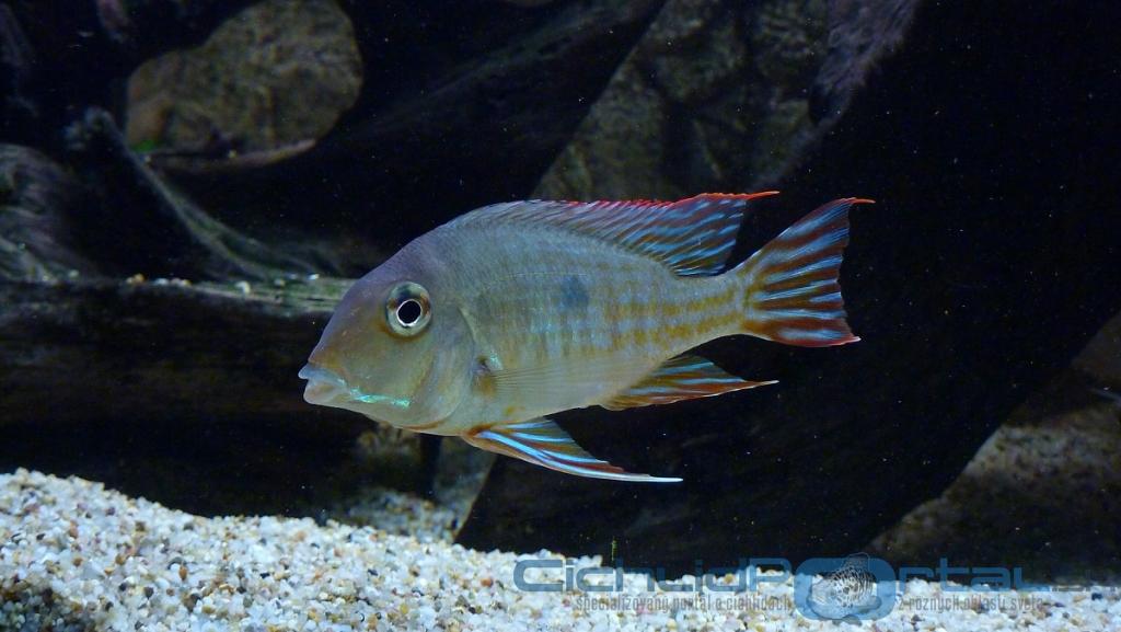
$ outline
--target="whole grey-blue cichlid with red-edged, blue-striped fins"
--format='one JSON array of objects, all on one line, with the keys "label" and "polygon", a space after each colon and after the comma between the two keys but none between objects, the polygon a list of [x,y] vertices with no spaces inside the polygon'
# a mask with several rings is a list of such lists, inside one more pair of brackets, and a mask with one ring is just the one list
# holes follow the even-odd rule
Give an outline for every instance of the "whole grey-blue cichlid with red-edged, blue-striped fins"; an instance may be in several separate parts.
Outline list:
[{"label": "whole grey-blue cichlid with red-edged, blue-striped fins", "polygon": [[304,399],[571,475],[679,482],[592,456],[549,415],[775,384],[691,352],[725,336],[859,340],[837,275],[849,210],[871,200],[828,202],[725,271],[745,209],[777,193],[527,200],[461,216],[346,291],[299,372]]}]

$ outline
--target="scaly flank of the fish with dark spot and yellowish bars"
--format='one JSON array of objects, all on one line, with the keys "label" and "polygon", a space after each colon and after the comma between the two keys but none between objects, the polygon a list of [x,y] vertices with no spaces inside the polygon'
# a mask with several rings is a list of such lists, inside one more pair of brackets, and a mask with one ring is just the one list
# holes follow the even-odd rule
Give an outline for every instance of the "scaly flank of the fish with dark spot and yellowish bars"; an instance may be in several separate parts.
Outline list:
[{"label": "scaly flank of the fish with dark spot and yellowish bars", "polygon": [[474,230],[495,246],[463,283],[507,368],[626,354],[641,376],[646,365],[734,327],[741,312],[721,276],[679,277],[648,257],[556,229]]}]

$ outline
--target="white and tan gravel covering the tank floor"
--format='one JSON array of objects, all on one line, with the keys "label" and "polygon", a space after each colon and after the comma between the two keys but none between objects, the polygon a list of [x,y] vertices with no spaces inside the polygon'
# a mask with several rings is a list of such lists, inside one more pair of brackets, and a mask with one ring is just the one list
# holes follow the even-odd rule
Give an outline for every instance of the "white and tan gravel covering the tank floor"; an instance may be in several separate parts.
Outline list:
[{"label": "white and tan gravel covering the tank floor", "polygon": [[[649,593],[640,575],[628,575],[621,593],[515,588],[515,562],[541,556],[558,558],[473,551],[334,521],[318,526],[308,519],[205,519],[78,478],[27,470],[0,476],[0,630],[856,628],[795,613],[789,580],[761,583],[751,593],[710,592],[702,599]],[[585,558],[574,566],[597,564]],[[859,626],[1121,630],[1121,590],[1009,592],[998,598],[912,580],[891,614]]]}]

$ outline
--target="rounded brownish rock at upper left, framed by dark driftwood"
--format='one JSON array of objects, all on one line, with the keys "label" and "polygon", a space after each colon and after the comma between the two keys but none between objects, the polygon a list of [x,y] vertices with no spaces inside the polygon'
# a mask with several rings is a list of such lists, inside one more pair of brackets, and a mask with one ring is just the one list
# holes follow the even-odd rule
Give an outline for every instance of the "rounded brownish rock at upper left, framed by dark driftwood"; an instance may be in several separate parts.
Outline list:
[{"label": "rounded brownish rock at upper left, framed by dark driftwood", "polygon": [[197,48],[129,80],[129,145],[170,153],[260,153],[323,137],[354,104],[362,59],[333,0],[268,0]]}]

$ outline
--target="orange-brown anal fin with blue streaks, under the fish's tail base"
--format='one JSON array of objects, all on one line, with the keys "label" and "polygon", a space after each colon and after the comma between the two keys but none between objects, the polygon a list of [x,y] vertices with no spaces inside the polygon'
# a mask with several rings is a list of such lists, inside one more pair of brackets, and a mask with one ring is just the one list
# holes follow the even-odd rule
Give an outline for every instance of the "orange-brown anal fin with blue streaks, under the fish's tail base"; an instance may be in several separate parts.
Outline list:
[{"label": "orange-brown anal fin with blue streaks, under the fish's tail base", "polygon": [[689,354],[670,358],[630,388],[600,405],[612,411],[668,404],[680,400],[711,397],[721,393],[775,384],[748,382],[731,375],[711,361]]}]

